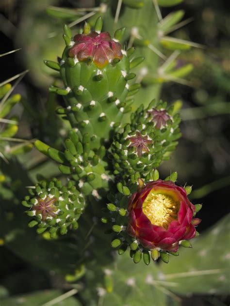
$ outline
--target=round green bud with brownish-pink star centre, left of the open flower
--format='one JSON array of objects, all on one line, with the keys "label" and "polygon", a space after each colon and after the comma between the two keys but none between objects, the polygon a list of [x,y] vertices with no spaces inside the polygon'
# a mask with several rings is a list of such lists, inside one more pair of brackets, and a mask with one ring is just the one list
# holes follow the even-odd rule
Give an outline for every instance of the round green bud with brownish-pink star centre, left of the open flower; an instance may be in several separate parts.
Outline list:
[{"label": "round green bud with brownish-pink star centre, left of the open flower", "polygon": [[68,228],[78,228],[85,199],[74,182],[68,181],[65,186],[54,178],[49,182],[41,181],[28,191],[30,195],[25,197],[22,205],[29,208],[25,213],[33,218],[28,226],[37,226],[38,234],[49,230],[50,237],[56,238],[58,232],[64,235]]}]

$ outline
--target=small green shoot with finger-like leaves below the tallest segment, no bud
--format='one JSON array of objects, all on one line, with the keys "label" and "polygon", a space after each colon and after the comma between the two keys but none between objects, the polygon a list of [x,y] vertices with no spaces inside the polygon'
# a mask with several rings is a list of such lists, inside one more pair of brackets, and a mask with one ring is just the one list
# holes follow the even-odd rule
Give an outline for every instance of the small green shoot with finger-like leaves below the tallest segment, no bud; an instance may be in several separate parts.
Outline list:
[{"label": "small green shoot with finger-like leaves below the tallest segment, no bud", "polygon": [[49,147],[40,140],[35,141],[35,147],[59,163],[59,170],[69,175],[78,185],[78,189],[84,196],[93,195],[99,199],[98,189],[108,187],[108,175],[105,170],[106,163],[103,161],[105,147],[91,150],[91,141],[88,133],[79,139],[74,129],[68,133],[65,140],[64,152]]}]

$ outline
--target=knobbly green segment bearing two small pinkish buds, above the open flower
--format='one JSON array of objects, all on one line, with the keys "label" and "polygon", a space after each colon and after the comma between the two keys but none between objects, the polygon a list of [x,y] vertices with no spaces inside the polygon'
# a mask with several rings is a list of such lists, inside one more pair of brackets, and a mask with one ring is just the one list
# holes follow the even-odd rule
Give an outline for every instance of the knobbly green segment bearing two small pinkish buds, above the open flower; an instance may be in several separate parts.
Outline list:
[{"label": "knobbly green segment bearing two small pinkish buds, above the open flower", "polygon": [[153,100],[146,109],[140,106],[131,115],[131,124],[115,134],[110,148],[114,174],[126,179],[138,171],[146,176],[168,159],[181,136],[178,127],[181,120],[172,112],[173,108],[166,103]]}]

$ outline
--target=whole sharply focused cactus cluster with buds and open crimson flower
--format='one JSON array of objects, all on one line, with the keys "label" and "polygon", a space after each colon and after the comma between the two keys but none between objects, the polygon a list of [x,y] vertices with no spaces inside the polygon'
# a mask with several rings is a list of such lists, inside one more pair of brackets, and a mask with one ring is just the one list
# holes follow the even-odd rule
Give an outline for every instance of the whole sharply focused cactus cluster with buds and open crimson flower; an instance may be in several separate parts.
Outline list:
[{"label": "whole sharply focused cactus cluster with buds and open crimson flower", "polygon": [[[166,252],[176,254],[179,242],[189,244],[187,239],[195,236],[194,224],[198,224],[198,219],[192,219],[195,207],[184,189],[169,181],[151,182],[152,176],[159,176],[153,169],[168,159],[177,145],[181,119],[174,106],[156,99],[147,107],[144,101],[131,113],[134,99],[130,96],[138,92],[140,84],[128,83],[135,78],[130,69],[144,58],[133,58],[133,47],[122,48],[124,28],[115,31],[114,38],[101,30],[101,16],[93,31],[85,23],[74,37],[65,25],[62,58],[58,63],[45,61],[60,71],[64,87],[51,86],[49,91],[64,97],[66,107],[56,112],[70,122],[71,129],[63,151],[40,140],[35,147],[58,162],[61,173],[71,181],[66,186],[56,179],[41,181],[29,190],[30,196],[23,201],[30,208],[26,214],[33,218],[29,227],[37,225],[37,233],[49,230],[50,238],[57,238],[59,233],[77,229],[85,207],[95,209],[95,202],[103,207],[110,192],[108,198],[114,204],[108,204],[108,209],[118,214],[101,220],[120,236],[112,246],[120,246],[121,254],[130,245],[134,262],[143,252],[149,264],[149,250],[154,260],[161,255],[167,262]],[[125,113],[131,113],[130,118],[124,117]],[[121,194],[115,190],[118,179],[122,179],[117,184]],[[167,212],[171,212],[169,216]]]}]

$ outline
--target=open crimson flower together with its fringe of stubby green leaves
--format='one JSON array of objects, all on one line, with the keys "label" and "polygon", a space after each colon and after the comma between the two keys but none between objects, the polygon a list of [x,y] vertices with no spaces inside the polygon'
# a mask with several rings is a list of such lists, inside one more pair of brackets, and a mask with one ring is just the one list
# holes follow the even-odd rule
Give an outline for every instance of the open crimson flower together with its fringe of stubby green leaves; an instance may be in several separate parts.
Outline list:
[{"label": "open crimson flower together with its fringe of stubby green leaves", "polygon": [[[156,174],[157,170],[154,175],[159,177]],[[178,255],[179,245],[192,247],[189,240],[198,235],[195,227],[201,220],[194,216],[201,206],[193,205],[188,199],[191,186],[183,188],[173,182],[176,176],[174,172],[164,181],[150,180],[146,184],[138,178],[138,188],[127,197],[126,208],[124,198],[120,200],[119,208],[112,203],[108,205],[109,210],[118,212],[117,219],[113,216],[112,222],[122,222],[112,226],[120,235],[113,240],[112,246],[124,249],[130,245],[134,262],[139,262],[142,253],[147,264],[150,255],[153,260],[161,256],[164,262],[168,262],[168,254]],[[123,186],[121,192],[127,192],[127,189]],[[126,214],[121,219],[120,211],[124,209]],[[121,249],[118,252],[122,253]]]}]

